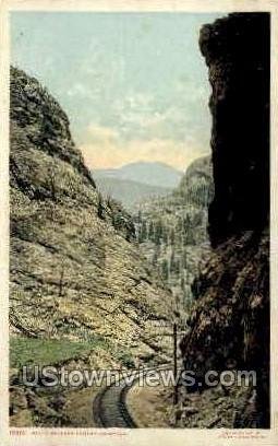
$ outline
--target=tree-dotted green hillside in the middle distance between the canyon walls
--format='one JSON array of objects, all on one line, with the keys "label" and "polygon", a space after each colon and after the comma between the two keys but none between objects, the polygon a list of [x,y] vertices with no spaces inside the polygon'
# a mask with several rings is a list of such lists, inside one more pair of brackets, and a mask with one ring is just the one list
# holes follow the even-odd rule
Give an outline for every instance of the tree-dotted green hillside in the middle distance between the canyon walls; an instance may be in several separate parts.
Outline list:
[{"label": "tree-dotted green hillside in the middle distance between the canyon walls", "polygon": [[192,304],[192,284],[209,253],[207,207],[211,197],[211,163],[202,157],[189,166],[171,193],[143,202],[135,220],[141,249],[158,268],[180,313]]}]

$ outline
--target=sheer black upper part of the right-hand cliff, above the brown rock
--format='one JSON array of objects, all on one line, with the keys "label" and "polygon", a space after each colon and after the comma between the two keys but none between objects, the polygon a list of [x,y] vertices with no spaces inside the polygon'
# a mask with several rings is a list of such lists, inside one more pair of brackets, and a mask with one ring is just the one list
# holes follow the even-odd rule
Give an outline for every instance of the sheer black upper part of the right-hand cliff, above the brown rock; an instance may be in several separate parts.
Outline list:
[{"label": "sheer black upper part of the right-hand cliff, above the brown rock", "polygon": [[214,244],[261,231],[269,215],[269,16],[230,14],[203,27],[213,87]]}]

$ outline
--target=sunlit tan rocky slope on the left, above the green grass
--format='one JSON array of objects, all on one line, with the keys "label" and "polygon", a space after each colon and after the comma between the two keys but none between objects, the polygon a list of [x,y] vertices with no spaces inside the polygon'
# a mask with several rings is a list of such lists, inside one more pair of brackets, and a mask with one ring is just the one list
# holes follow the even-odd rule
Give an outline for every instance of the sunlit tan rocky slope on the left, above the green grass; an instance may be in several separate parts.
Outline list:
[{"label": "sunlit tan rocky slope on the left, above the green grass", "polygon": [[140,257],[129,215],[101,199],[59,104],[11,69],[11,331],[159,351],[171,296]]}]

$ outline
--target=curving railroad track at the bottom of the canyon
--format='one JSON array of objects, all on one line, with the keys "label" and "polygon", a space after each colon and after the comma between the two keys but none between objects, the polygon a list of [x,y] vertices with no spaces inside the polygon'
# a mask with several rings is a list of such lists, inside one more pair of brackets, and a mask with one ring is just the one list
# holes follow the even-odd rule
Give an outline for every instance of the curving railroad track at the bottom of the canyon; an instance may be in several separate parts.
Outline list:
[{"label": "curving railroad track at the bottom of the canyon", "polygon": [[[167,367],[169,365],[162,365],[153,368],[153,371]],[[150,369],[144,371],[144,375],[149,372]],[[129,384],[123,378],[97,394],[93,402],[93,415],[98,427],[138,427],[126,407],[126,395],[138,380],[138,377],[140,374],[135,374]]]}]

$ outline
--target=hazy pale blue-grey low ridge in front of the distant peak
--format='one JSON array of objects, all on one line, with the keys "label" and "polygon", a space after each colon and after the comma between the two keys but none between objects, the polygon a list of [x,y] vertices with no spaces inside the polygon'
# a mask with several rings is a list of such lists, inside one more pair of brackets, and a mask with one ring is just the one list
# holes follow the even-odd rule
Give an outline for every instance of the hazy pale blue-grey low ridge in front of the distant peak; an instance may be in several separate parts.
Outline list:
[{"label": "hazy pale blue-grey low ridge in front of the distant peak", "polygon": [[170,188],[166,187],[105,176],[97,171],[94,174],[94,179],[104,197],[112,197],[122,203],[129,212],[134,212],[143,200],[166,196],[171,191]]}]

